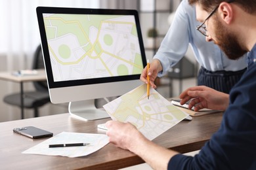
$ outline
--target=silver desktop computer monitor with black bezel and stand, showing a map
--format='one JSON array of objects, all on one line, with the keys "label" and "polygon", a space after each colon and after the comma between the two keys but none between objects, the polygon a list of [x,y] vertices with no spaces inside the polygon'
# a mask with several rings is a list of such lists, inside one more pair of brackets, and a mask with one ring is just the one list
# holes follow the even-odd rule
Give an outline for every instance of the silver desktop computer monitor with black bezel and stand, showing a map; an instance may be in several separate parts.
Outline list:
[{"label": "silver desktop computer monitor with black bezel and stand, showing a map", "polygon": [[123,95],[142,82],[146,56],[136,10],[37,7],[52,103],[96,120],[94,99]]}]

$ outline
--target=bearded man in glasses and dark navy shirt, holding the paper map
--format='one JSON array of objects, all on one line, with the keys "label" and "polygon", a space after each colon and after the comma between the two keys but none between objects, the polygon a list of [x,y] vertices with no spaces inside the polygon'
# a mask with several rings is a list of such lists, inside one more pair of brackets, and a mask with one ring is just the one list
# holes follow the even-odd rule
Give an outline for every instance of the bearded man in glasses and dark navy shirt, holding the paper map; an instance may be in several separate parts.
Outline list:
[{"label": "bearded man in glasses and dark navy shirt, holding the paper map", "polygon": [[129,123],[107,122],[107,135],[111,143],[134,152],[153,169],[256,169],[256,0],[189,1],[196,5],[197,20],[204,23],[195,29],[206,41],[218,44],[228,58],[249,52],[247,71],[230,95],[206,86],[180,95],[181,104],[192,99],[190,108],[195,110],[225,110],[221,127],[194,157],[148,141]]}]

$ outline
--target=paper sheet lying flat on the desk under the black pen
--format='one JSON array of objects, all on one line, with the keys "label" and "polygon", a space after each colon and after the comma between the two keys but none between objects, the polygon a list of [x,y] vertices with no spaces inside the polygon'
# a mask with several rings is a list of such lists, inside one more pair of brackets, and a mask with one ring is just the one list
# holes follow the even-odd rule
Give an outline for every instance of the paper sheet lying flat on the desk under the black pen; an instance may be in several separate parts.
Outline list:
[{"label": "paper sheet lying flat on the desk under the black pen", "polygon": [[[49,144],[66,144],[66,143],[90,143],[87,146],[71,146],[49,148]],[[93,133],[71,133],[62,132],[42,143],[39,143],[22,154],[41,154],[49,156],[68,156],[75,158],[79,156],[87,156],[96,152],[103,146],[108,144],[108,136],[104,134]]]}]

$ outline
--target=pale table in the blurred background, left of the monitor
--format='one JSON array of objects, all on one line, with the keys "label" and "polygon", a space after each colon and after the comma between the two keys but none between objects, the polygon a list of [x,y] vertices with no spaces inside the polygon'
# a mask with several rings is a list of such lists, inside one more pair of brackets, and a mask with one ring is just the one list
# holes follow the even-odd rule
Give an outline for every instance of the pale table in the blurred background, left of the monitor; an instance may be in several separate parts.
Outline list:
[{"label": "pale table in the blurred background, left of the monitor", "polygon": [[36,71],[38,73],[37,75],[25,75],[25,76],[13,75],[10,72],[1,72],[0,73],[1,80],[7,80],[7,81],[11,81],[11,82],[20,83],[20,103],[21,103],[20,112],[21,112],[22,119],[24,118],[23,83],[46,80],[45,69],[37,69]]}]

